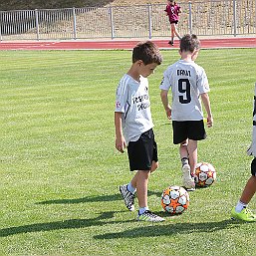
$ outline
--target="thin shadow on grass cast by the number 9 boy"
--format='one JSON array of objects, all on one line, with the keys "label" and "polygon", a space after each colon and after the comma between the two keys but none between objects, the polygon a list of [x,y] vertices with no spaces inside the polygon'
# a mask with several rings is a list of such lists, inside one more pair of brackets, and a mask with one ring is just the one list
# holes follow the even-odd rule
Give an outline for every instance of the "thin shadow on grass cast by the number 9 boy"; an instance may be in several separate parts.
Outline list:
[{"label": "thin shadow on grass cast by the number 9 boy", "polygon": [[[148,196],[156,195],[160,197],[161,192],[148,191]],[[74,199],[55,199],[37,202],[36,204],[73,204],[73,203],[86,203],[86,202],[108,202],[108,201],[118,201],[123,200],[120,193],[110,194],[110,195],[97,195],[97,196],[86,196],[82,198]]]}]

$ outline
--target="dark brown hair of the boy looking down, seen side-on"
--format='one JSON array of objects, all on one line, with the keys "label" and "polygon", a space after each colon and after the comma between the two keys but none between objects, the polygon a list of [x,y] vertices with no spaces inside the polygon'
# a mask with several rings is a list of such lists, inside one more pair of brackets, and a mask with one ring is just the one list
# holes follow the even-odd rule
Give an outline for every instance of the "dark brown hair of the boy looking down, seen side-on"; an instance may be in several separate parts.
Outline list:
[{"label": "dark brown hair of the boy looking down, seen side-on", "polygon": [[158,65],[162,62],[161,54],[157,46],[151,41],[138,43],[132,51],[132,63],[141,60],[144,65],[156,63]]}]

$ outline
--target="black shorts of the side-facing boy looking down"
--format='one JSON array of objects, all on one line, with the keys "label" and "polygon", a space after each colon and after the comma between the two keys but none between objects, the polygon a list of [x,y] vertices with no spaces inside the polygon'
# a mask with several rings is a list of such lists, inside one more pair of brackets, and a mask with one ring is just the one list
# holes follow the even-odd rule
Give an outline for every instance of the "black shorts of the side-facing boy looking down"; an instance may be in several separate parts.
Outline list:
[{"label": "black shorts of the side-facing boy looking down", "polygon": [[149,170],[152,161],[158,161],[157,144],[152,128],[143,132],[136,141],[128,142],[129,169]]}]

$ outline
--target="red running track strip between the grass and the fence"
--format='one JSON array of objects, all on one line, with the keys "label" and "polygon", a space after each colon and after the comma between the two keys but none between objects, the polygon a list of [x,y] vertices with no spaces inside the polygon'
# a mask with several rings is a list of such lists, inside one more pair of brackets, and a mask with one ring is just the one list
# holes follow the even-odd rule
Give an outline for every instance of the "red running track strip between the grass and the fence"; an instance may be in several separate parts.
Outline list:
[{"label": "red running track strip between the grass and the fence", "polygon": [[[108,41],[24,41],[0,42],[0,50],[130,50],[140,40]],[[159,49],[177,49],[168,45],[168,40],[152,40]],[[256,38],[201,39],[202,49],[256,48]]]}]

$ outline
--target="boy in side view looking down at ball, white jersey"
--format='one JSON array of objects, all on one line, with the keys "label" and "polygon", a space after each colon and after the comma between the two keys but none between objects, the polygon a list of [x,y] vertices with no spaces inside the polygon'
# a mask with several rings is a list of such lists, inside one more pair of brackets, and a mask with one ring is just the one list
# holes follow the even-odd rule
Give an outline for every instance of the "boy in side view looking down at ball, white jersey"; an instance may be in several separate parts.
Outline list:
[{"label": "boy in side view looking down at ball, white jersey", "polygon": [[161,64],[162,57],[150,41],[138,43],[132,51],[132,65],[121,79],[116,94],[116,148],[124,152],[128,146],[130,171],[135,170],[128,184],[120,186],[120,192],[128,210],[134,210],[134,193],[138,200],[137,220],[164,221],[149,211],[147,206],[147,183],[149,175],[158,166],[157,145],[146,77]]}]

